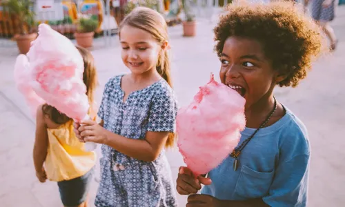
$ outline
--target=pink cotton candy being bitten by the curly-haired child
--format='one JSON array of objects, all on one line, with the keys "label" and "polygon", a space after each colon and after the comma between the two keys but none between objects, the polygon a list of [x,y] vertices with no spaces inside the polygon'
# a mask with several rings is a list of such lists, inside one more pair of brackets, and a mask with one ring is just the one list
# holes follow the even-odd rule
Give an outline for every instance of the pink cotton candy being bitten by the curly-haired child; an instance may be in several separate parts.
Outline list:
[{"label": "pink cotton candy being bitten by the curly-haired child", "polygon": [[189,106],[177,113],[177,145],[195,175],[216,168],[239,142],[246,100],[211,76]]}]

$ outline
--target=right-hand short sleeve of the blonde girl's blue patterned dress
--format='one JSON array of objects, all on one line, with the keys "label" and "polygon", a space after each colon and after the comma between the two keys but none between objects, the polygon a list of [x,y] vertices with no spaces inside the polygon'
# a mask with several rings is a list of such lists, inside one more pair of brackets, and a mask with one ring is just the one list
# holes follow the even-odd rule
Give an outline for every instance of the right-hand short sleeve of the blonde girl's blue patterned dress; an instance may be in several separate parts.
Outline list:
[{"label": "right-hand short sleeve of the blonde girl's blue patterned dress", "polygon": [[175,132],[177,103],[170,92],[161,92],[152,99],[148,117],[148,131]]}]

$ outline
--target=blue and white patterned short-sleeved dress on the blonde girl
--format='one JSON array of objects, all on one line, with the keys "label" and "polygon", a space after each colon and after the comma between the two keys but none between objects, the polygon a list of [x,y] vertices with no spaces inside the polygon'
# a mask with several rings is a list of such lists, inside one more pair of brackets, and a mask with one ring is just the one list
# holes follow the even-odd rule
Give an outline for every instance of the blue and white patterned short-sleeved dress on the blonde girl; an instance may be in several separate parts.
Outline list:
[{"label": "blue and white patterned short-sleeved dress on the blonde girl", "polygon": [[[106,83],[98,112],[103,127],[128,139],[144,139],[148,131],[174,132],[177,103],[168,83],[161,79],[130,93],[124,102],[121,77]],[[164,150],[152,162],[128,157],[106,145],[101,150],[101,182],[95,206],[177,206]]]}]

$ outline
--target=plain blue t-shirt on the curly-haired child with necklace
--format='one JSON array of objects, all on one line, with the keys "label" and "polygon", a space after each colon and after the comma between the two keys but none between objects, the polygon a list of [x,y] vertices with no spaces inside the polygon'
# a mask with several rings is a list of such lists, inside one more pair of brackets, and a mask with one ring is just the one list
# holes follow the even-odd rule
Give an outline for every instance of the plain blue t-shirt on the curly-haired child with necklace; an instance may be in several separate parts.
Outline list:
[{"label": "plain blue t-shirt on the curly-haired child with necklace", "polygon": [[[239,144],[254,131],[246,128]],[[306,127],[286,109],[282,119],[250,140],[236,171],[230,156],[210,171],[213,182],[201,193],[226,200],[262,198],[275,207],[306,206],[310,153]]]}]

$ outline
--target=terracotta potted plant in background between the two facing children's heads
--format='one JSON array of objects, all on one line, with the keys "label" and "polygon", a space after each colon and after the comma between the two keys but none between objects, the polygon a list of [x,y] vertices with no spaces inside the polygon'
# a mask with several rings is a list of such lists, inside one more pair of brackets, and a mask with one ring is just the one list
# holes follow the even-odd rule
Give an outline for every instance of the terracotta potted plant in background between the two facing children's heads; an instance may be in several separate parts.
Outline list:
[{"label": "terracotta potted plant in background between the two facing children's heads", "polygon": [[186,20],[182,22],[184,37],[194,37],[196,33],[195,14],[190,7],[190,0],[182,0]]}]

